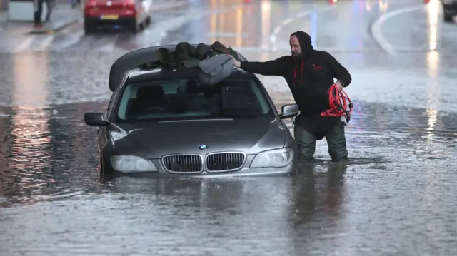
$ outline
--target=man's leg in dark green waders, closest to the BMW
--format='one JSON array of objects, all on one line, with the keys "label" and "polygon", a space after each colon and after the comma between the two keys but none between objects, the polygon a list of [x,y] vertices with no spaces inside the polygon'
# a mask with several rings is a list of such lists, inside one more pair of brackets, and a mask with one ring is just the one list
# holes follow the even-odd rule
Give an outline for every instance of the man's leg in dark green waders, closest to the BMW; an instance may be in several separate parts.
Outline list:
[{"label": "man's leg in dark green waders, closest to the BMW", "polygon": [[314,163],[316,152],[316,137],[297,123],[293,126],[293,137],[298,145],[298,156],[301,163]]}]

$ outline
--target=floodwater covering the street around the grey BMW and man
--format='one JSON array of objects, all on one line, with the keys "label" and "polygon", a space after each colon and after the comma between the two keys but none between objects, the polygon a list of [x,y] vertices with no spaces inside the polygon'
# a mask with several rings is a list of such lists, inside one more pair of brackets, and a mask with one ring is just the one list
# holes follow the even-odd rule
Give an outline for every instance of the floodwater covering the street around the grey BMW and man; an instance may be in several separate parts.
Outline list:
[{"label": "floodwater covering the street around the grey BMW and man", "polygon": [[[0,255],[457,255],[457,24],[437,2],[202,0],[138,35],[81,29],[0,42]],[[99,183],[83,116],[106,108],[116,58],[219,40],[266,61],[296,30],[353,76],[351,163],[321,140],[324,163],[290,177]]]}]

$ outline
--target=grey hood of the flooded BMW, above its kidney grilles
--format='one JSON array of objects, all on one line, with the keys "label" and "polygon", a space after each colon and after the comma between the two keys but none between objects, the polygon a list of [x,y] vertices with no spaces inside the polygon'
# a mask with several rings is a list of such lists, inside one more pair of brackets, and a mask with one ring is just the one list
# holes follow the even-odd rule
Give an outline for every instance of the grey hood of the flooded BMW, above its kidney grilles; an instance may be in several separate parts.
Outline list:
[{"label": "grey hood of the flooded BMW, above its kidney grilles", "polygon": [[[116,151],[148,158],[174,153],[243,151],[248,155],[281,148],[286,130],[276,119],[138,122],[112,126]],[[200,150],[199,145],[206,145]]]}]

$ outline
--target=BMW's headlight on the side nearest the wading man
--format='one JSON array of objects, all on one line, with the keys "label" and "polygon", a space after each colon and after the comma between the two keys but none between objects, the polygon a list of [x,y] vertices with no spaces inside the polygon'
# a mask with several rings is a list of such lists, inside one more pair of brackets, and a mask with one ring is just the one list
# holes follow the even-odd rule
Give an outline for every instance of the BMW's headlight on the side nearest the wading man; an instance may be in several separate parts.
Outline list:
[{"label": "BMW's headlight on the side nearest the wading man", "polygon": [[281,148],[258,153],[252,160],[251,168],[284,167],[293,160],[292,148]]}]

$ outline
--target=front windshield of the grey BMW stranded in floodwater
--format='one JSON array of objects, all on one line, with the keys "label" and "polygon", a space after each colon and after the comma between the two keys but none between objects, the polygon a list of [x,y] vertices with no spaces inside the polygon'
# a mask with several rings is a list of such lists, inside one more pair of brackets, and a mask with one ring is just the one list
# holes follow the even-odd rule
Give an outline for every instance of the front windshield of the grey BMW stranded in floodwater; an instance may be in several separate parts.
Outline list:
[{"label": "front windshield of the grey BMW stranded in floodwater", "polygon": [[128,84],[118,110],[118,121],[257,118],[273,112],[258,82],[226,79],[200,86],[193,79]]}]

